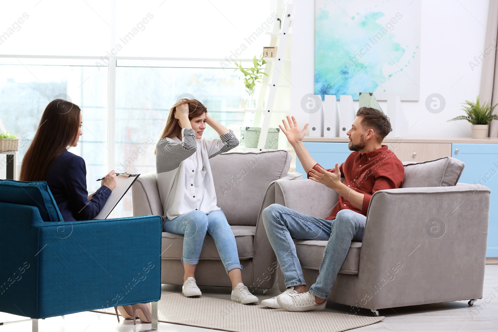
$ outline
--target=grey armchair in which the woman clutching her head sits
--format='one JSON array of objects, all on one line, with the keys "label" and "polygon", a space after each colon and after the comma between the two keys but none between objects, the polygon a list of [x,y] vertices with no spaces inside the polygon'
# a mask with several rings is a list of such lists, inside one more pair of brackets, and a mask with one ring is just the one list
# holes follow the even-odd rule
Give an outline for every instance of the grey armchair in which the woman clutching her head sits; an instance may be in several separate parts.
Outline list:
[{"label": "grey armchair in which the woman clutching her head sits", "polygon": [[[261,221],[263,201],[265,206],[275,203],[275,180],[301,179],[300,173],[288,173],[290,161],[290,154],[283,150],[228,152],[210,160],[218,206],[237,241],[243,282],[263,288],[263,292],[276,284],[278,266]],[[163,216],[155,172],[140,175],[131,192],[133,216]],[[161,283],[183,284],[182,248],[183,235],[162,233]],[[196,281],[199,286],[232,286],[209,234],[196,268]]]}]

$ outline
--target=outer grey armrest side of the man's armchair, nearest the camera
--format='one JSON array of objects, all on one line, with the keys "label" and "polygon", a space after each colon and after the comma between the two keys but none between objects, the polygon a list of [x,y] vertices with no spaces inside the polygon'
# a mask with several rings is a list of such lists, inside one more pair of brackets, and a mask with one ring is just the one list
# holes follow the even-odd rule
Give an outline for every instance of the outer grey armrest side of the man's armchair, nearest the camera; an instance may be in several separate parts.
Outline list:
[{"label": "outer grey armrest side of the man's armchair, nearest the camera", "polygon": [[482,298],[489,206],[490,190],[482,185],[374,193],[360,254],[359,306]]}]

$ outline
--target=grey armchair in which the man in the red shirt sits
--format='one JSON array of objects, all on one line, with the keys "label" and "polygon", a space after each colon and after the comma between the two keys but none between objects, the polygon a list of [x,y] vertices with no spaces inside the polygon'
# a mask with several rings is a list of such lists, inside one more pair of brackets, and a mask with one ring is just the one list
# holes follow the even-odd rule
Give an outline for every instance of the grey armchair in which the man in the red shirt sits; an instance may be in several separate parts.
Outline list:
[{"label": "grey armchair in which the man in the red shirt sits", "polygon": [[[351,242],[329,301],[378,316],[377,309],[483,297],[490,190],[457,183],[464,164],[451,157],[404,165],[402,188],[373,194],[363,242]],[[277,204],[319,218],[338,198],[312,180],[277,181],[275,194]],[[327,241],[294,242],[310,286]]]}]

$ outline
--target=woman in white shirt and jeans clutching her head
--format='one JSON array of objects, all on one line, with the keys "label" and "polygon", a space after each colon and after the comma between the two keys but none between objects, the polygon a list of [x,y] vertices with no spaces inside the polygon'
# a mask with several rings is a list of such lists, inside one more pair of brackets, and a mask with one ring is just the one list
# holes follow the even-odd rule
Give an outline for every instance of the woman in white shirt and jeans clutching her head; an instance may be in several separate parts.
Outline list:
[{"label": "woman in white shirt and jeans clutching her head", "polygon": [[[209,124],[220,138],[202,134]],[[233,301],[257,302],[242,283],[242,265],[235,236],[225,214],[217,207],[209,159],[239,145],[234,132],[213,119],[204,105],[181,99],[169,110],[168,119],[156,144],[157,187],[166,211],[163,230],[182,234],[184,267],[182,293],[200,296],[194,272],[206,233],[213,236],[220,259],[232,281]]]}]

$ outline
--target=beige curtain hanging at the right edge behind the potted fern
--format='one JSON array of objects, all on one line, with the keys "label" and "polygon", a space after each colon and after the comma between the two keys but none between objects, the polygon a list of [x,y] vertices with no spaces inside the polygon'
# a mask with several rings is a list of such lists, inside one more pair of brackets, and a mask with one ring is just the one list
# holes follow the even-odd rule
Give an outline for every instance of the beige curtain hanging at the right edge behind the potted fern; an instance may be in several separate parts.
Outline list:
[{"label": "beige curtain hanging at the right edge behind the potted fern", "polygon": [[[491,102],[491,105],[498,103],[498,1],[490,1],[490,13],[488,16],[488,27],[486,32],[485,50],[493,49],[491,55],[483,63],[483,73],[481,76],[480,100],[482,103]],[[488,51],[489,52],[489,51]],[[486,54],[487,55],[487,54]],[[498,114],[498,107],[493,112]],[[498,137],[498,121],[490,123],[490,137]]]}]

